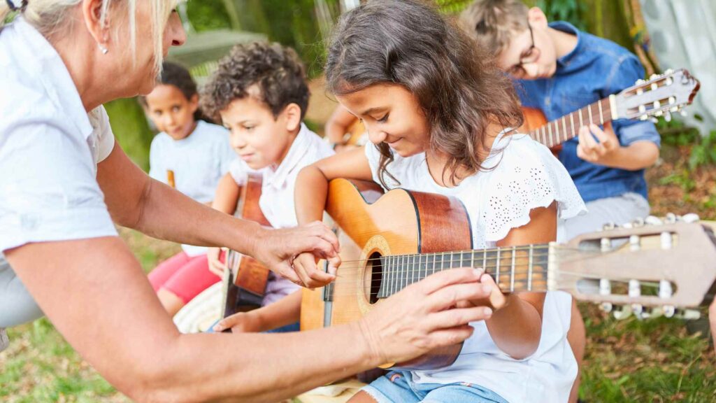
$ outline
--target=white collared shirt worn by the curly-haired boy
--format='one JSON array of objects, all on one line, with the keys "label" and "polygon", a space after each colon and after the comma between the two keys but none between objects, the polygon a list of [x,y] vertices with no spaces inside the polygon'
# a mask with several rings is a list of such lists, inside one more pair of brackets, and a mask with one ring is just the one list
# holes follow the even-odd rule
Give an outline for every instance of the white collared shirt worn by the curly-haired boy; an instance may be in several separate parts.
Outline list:
[{"label": "white collared shirt worn by the curly-haired boy", "polygon": [[[296,227],[296,208],[294,204],[294,189],[296,187],[296,176],[299,175],[304,166],[334,154],[331,146],[323,141],[316,133],[309,130],[304,123],[301,123],[301,130],[294,143],[291,144],[289,153],[284,161],[274,168],[266,167],[253,170],[246,162],[237,158],[231,162],[229,172],[231,177],[239,186],[246,181],[246,175],[250,172],[261,174],[261,198],[258,205],[261,212],[274,228]],[[263,305],[279,300],[281,297],[297,290],[298,285],[291,283],[284,278],[276,278],[274,273],[270,274],[269,284],[266,286],[266,296],[263,298]]]}]

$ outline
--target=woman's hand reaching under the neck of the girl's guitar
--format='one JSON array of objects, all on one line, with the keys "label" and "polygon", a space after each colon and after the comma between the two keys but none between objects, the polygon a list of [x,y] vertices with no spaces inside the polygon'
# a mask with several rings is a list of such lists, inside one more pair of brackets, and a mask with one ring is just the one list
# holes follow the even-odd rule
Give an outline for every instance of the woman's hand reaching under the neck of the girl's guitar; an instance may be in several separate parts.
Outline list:
[{"label": "woman's hand reaching under the neck of the girl's guitar", "polygon": [[480,282],[482,275],[472,268],[446,270],[377,304],[359,321],[372,354],[382,362],[404,362],[470,337],[473,327],[468,323],[492,315],[488,307],[465,306],[490,297],[493,287]]}]

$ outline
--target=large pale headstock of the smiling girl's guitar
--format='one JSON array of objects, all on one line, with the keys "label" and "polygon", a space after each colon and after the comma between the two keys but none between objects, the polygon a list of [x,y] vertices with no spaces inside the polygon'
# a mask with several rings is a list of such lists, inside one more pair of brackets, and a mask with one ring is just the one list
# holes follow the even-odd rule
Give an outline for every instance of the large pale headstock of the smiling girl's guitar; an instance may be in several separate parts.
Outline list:
[{"label": "large pale headstock of the smiling girl's guitar", "polygon": [[716,282],[716,237],[697,220],[695,214],[649,217],[556,245],[549,288],[606,310],[626,305],[637,315],[655,307],[673,316],[676,308],[708,303]]}]

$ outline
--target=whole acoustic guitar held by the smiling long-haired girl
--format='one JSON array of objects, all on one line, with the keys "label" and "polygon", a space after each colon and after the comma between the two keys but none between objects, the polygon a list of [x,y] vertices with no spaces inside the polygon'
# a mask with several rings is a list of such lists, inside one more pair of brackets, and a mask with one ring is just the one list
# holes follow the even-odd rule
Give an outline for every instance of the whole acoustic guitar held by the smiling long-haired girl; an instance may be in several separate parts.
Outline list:
[{"label": "whole acoustic guitar held by the smiling long-haired girl", "polygon": [[[301,330],[355,321],[407,285],[453,267],[483,267],[504,292],[565,290],[642,316],[644,307],[673,316],[675,307],[705,303],[716,280],[712,230],[677,219],[584,234],[565,245],[473,250],[468,213],[452,197],[404,189],[382,195],[374,184],[336,179],[326,212],[340,229],[343,263],[334,283],[304,290]],[[461,348],[398,365],[447,366]]]}]

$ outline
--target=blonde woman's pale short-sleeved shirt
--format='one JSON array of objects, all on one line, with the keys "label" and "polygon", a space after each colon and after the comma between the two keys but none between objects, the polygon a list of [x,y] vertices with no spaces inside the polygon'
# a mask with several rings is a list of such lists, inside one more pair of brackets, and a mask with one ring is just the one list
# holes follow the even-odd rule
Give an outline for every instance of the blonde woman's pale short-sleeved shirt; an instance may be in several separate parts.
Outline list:
[{"label": "blonde woman's pale short-sleeved shirt", "polygon": [[47,39],[18,18],[0,33],[0,252],[115,236],[97,163],[115,144],[105,108],[87,113]]}]

